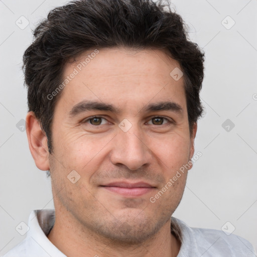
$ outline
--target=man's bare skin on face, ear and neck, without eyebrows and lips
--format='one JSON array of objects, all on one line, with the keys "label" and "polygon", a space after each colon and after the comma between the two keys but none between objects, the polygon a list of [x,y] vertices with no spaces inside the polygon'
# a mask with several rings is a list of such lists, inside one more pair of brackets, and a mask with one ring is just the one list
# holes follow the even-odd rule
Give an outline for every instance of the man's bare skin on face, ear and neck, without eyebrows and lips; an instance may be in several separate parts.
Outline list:
[{"label": "man's bare skin on face, ear and neck, without eyebrows and lips", "polygon": [[[91,52],[68,63],[64,77]],[[170,76],[175,67],[179,63],[164,50],[99,49],[57,101],[51,155],[38,120],[28,113],[31,153],[37,167],[51,173],[56,222],[48,238],[67,256],[177,256],[180,242],[171,234],[170,217],[187,171],[150,202],[194,154],[197,124],[190,135],[184,79]],[[112,104],[118,112],[84,110],[71,117],[83,100]],[[163,101],[177,103],[182,112],[145,110]],[[119,127],[124,118],[132,125],[127,132]],[[73,170],[80,176],[74,184],[67,179]],[[103,186],[113,181],[152,188],[140,196],[121,195]]]}]

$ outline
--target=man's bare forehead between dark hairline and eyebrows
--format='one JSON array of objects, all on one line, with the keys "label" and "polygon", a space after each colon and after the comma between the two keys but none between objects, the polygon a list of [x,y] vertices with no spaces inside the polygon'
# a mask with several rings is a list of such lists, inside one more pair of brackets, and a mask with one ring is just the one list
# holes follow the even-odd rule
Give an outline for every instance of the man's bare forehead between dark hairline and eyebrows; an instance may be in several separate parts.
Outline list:
[{"label": "man's bare forehead between dark hairline and eyebrows", "polygon": [[161,99],[185,105],[184,78],[171,76],[177,69],[179,63],[163,50],[93,49],[66,64],[60,101],[74,105],[90,99],[133,107]]}]

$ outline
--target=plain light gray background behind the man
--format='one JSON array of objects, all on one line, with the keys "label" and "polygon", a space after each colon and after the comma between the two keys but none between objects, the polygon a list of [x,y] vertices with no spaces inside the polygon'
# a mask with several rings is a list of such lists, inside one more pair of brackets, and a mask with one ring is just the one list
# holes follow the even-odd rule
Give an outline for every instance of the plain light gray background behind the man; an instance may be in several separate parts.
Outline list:
[{"label": "plain light gray background behind the man", "polygon": [[[53,208],[50,179],[35,166],[26,132],[21,131],[20,120],[27,112],[21,62],[32,41],[31,29],[49,10],[65,3],[0,1],[1,255],[24,239],[16,227],[28,222],[32,210]],[[201,92],[206,113],[195,140],[195,153],[200,151],[202,157],[189,171],[173,216],[193,227],[235,227],[233,233],[249,240],[256,251],[257,1],[177,0],[172,6],[206,55]],[[29,21],[22,29],[26,20],[21,16]]]}]

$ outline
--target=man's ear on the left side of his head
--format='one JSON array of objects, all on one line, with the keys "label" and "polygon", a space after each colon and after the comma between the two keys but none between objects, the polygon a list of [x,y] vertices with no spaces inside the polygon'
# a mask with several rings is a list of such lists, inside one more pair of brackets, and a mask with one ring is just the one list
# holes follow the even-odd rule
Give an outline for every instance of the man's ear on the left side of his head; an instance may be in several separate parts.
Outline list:
[{"label": "man's ear on the left side of his head", "polygon": [[32,111],[28,112],[26,117],[26,131],[30,152],[36,166],[43,171],[49,170],[47,137],[41,130],[40,122]]}]

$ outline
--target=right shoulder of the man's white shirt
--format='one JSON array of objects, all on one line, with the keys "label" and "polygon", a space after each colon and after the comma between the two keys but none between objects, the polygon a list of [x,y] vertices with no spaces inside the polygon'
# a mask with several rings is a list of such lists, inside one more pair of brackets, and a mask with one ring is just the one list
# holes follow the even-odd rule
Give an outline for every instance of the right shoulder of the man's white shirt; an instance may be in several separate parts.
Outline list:
[{"label": "right shoulder of the man's white shirt", "polygon": [[[202,254],[203,256],[255,256],[250,242],[238,235],[228,235],[216,229],[189,227],[179,219],[172,219],[180,228],[182,252],[187,251],[187,253]],[[188,247],[188,245],[190,246]]]}]

